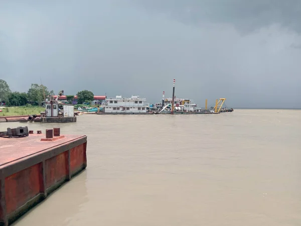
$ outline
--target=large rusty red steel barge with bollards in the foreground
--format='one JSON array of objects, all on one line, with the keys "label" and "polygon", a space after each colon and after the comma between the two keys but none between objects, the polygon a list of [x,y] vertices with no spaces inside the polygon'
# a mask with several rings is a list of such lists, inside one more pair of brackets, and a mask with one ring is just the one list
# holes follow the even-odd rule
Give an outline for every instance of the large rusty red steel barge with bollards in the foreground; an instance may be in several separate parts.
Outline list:
[{"label": "large rusty red steel barge with bollards in the foreground", "polygon": [[28,127],[0,132],[0,225],[8,226],[86,168],[87,136],[61,135],[60,128],[45,135]]}]

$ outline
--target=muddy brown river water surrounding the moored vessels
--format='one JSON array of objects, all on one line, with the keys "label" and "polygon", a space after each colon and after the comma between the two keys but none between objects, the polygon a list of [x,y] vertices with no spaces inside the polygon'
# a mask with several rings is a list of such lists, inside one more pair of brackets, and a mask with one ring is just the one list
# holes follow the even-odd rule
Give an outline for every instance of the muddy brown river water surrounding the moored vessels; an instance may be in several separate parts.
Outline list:
[{"label": "muddy brown river water surrounding the moored vessels", "polygon": [[27,124],[87,135],[88,166],[14,225],[301,225],[301,110],[77,120]]}]

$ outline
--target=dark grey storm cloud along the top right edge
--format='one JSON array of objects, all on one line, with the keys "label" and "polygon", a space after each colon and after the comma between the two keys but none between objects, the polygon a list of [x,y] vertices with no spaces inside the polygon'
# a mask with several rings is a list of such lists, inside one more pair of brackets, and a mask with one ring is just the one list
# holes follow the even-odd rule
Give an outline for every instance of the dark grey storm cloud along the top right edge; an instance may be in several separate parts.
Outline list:
[{"label": "dark grey storm cloud along the top right edge", "polygon": [[243,33],[279,24],[301,32],[299,0],[132,0],[155,12],[166,13],[185,24],[230,24]]}]

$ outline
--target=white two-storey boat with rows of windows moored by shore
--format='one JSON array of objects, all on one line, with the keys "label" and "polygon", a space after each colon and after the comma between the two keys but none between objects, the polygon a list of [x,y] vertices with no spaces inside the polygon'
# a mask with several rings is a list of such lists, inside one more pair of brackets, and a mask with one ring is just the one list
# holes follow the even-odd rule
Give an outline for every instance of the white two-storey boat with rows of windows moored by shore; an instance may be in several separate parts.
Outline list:
[{"label": "white two-storey boat with rows of windows moored by shore", "polygon": [[148,111],[148,105],[146,104],[146,98],[140,98],[139,96],[122,97],[116,96],[115,98],[106,98],[102,103],[102,107],[105,113],[115,114],[143,114]]}]

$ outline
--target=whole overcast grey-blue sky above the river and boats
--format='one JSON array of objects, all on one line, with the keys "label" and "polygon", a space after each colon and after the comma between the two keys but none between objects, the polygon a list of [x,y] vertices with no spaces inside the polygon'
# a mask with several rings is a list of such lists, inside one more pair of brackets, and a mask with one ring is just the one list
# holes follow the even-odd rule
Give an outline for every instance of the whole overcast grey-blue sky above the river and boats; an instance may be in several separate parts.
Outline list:
[{"label": "whole overcast grey-blue sky above the river and boats", "polygon": [[0,79],[13,91],[301,107],[299,0],[0,2]]}]

